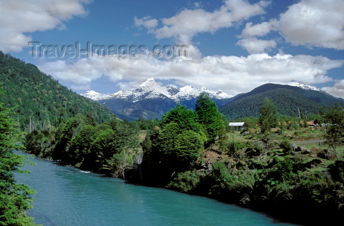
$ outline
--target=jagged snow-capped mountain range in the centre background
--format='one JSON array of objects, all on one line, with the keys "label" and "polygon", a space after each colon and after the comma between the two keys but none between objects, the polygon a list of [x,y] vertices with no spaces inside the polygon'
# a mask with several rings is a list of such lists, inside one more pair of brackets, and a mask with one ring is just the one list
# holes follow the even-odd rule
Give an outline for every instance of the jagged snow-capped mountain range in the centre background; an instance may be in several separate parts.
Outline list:
[{"label": "jagged snow-capped mountain range in the centre background", "polygon": [[135,120],[140,117],[160,118],[177,103],[194,108],[197,98],[202,92],[212,98],[219,107],[229,103],[233,97],[222,90],[212,91],[204,86],[201,88],[191,85],[181,88],[176,85],[161,86],[154,79],[148,79],[138,88],[120,90],[103,97],[101,97],[102,94],[94,91],[86,91],[81,95],[104,104],[119,118]]}]

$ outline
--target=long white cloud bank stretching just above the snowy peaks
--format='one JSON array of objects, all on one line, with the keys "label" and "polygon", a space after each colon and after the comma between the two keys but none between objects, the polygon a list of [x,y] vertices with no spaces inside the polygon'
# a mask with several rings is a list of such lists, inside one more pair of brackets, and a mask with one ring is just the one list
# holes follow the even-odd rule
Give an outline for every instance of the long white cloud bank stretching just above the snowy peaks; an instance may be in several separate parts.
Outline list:
[{"label": "long white cloud bank stretching just above the snowy peaks", "polygon": [[[176,57],[88,57],[70,62],[57,60],[42,63],[39,68],[56,79],[73,82],[73,88],[84,87],[104,76],[123,87],[132,87],[148,78],[171,80],[179,85],[206,86],[230,94],[250,91],[265,83],[287,84],[295,78],[312,85],[332,81],[327,71],[341,67],[344,60],[307,55],[253,54],[248,57],[210,56],[200,59]],[[122,80],[131,81],[126,84]],[[101,91],[101,90],[100,90]]]}]

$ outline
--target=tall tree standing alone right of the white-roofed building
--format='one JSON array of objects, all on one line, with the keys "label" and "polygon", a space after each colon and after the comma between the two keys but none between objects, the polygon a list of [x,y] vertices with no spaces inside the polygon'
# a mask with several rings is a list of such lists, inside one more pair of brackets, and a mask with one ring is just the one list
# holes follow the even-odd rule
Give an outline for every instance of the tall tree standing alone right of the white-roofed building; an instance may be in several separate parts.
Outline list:
[{"label": "tall tree standing alone right of the white-roofed building", "polygon": [[264,104],[260,108],[258,123],[263,134],[269,133],[270,130],[278,125],[278,111],[274,102],[265,97]]}]

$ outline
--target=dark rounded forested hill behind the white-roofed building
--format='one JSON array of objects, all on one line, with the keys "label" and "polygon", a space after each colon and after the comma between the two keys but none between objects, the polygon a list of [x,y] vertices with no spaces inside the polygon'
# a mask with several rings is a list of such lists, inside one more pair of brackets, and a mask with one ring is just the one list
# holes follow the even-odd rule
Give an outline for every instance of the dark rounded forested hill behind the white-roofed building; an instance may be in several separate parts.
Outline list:
[{"label": "dark rounded forested hill behind the white-roofed building", "polygon": [[331,106],[343,99],[314,89],[291,85],[264,84],[252,91],[234,97],[233,101],[219,108],[228,119],[258,116],[263,99],[271,99],[279,113],[298,116],[299,109],[307,114],[319,113],[323,106]]}]

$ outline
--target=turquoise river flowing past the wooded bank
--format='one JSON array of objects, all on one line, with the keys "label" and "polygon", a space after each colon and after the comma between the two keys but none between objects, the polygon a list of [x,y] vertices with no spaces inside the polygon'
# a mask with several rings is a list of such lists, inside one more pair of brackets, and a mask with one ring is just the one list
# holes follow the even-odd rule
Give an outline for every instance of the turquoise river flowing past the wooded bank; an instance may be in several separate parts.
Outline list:
[{"label": "turquoise river flowing past the wooded bank", "polygon": [[28,215],[44,226],[290,225],[240,206],[127,183],[43,159],[16,180],[36,190]]}]

